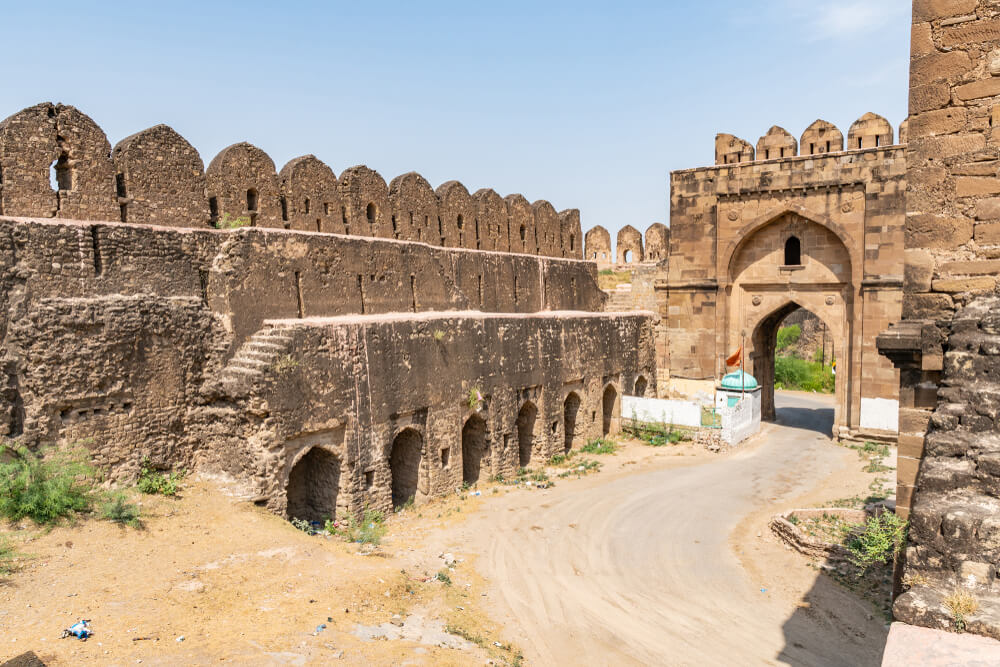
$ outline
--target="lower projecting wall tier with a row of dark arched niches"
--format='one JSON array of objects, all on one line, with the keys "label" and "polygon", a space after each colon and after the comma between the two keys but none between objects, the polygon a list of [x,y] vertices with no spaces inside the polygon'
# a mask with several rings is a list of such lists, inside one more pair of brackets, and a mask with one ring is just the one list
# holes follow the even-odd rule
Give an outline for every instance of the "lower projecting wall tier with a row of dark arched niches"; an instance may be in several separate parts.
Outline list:
[{"label": "lower projecting wall tier with a row of dark arched niches", "polygon": [[[270,427],[248,428],[240,437],[258,447],[243,474],[278,512],[286,509],[292,463],[311,446],[328,446],[343,462],[345,498],[338,506],[389,510],[392,444],[401,431],[420,436],[419,502],[461,486],[466,455],[481,457],[480,480],[516,473],[524,463],[517,417],[526,403],[537,408],[530,463],[547,461],[565,453],[567,442],[576,449],[603,434],[607,387],[616,395],[617,419],[625,388],[639,375],[655,374],[652,330],[642,314],[461,313],[271,324],[285,327],[300,363],[255,385]],[[393,390],[380,391],[390,378]],[[313,388],[308,402],[294,399],[302,386]],[[482,403],[469,405],[472,390]],[[570,394],[579,405],[567,422]],[[486,427],[479,451],[462,446],[463,424],[473,416]]]}]

